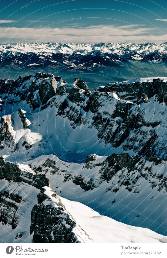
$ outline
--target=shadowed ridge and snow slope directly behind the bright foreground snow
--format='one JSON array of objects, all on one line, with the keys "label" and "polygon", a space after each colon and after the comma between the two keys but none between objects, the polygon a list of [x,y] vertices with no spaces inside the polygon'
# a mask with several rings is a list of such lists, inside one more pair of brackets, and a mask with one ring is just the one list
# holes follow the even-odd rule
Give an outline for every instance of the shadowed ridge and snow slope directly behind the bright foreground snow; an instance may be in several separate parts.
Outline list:
[{"label": "shadowed ridge and snow slope directly behind the bright foreground snow", "polygon": [[166,235],[166,161],[114,153],[89,156],[85,164],[62,162],[54,155],[28,164],[36,173],[46,173],[59,195]]}]

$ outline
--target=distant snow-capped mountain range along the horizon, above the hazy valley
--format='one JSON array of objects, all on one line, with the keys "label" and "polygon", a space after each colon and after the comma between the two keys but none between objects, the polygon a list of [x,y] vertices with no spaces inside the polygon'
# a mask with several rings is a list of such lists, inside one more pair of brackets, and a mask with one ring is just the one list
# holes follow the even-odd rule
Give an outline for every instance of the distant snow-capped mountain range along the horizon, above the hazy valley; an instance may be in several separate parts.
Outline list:
[{"label": "distant snow-capped mountain range along the horizon, above the hazy valley", "polygon": [[160,62],[167,60],[167,42],[156,43],[11,43],[0,44],[1,68],[65,67],[123,65],[126,62]]}]

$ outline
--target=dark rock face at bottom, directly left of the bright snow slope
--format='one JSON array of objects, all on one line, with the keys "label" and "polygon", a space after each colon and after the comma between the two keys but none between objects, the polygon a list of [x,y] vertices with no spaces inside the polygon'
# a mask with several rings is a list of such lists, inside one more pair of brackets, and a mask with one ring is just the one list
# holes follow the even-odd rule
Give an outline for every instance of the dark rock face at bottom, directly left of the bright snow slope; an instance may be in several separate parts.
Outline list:
[{"label": "dark rock face at bottom, directly left of the bright snow slope", "polygon": [[[54,192],[53,195],[58,198]],[[34,232],[34,243],[78,243],[72,232],[76,223],[70,218],[60,199],[57,207],[45,205],[43,202],[47,200],[49,202],[45,192],[38,194],[38,205],[31,212],[30,234]]]}]

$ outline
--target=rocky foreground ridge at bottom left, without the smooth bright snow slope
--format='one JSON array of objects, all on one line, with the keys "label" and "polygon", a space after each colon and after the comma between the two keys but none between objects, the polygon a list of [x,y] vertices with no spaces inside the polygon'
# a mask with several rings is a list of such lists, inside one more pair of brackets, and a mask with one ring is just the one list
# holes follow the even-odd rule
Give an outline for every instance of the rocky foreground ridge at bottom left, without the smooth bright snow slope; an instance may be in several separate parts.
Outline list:
[{"label": "rocky foreground ridge at bottom left, without the smooth bright snow slope", "polygon": [[0,162],[1,243],[88,242],[89,236],[49,188],[45,174],[36,175],[28,166],[2,157]]}]

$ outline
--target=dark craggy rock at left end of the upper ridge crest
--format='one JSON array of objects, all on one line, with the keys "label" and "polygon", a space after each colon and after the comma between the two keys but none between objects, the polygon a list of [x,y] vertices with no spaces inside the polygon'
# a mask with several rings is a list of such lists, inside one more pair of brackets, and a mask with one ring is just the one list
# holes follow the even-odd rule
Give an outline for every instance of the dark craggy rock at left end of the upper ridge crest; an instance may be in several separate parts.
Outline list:
[{"label": "dark craggy rock at left end of the upper ridge crest", "polygon": [[[28,84],[26,84],[28,82]],[[17,80],[0,80],[0,94],[20,96],[21,100],[26,100],[33,110],[44,105],[50,98],[55,96],[57,81],[53,74],[37,73],[19,77]],[[8,100],[6,100],[8,103]],[[13,104],[17,102],[13,100]]]}]

